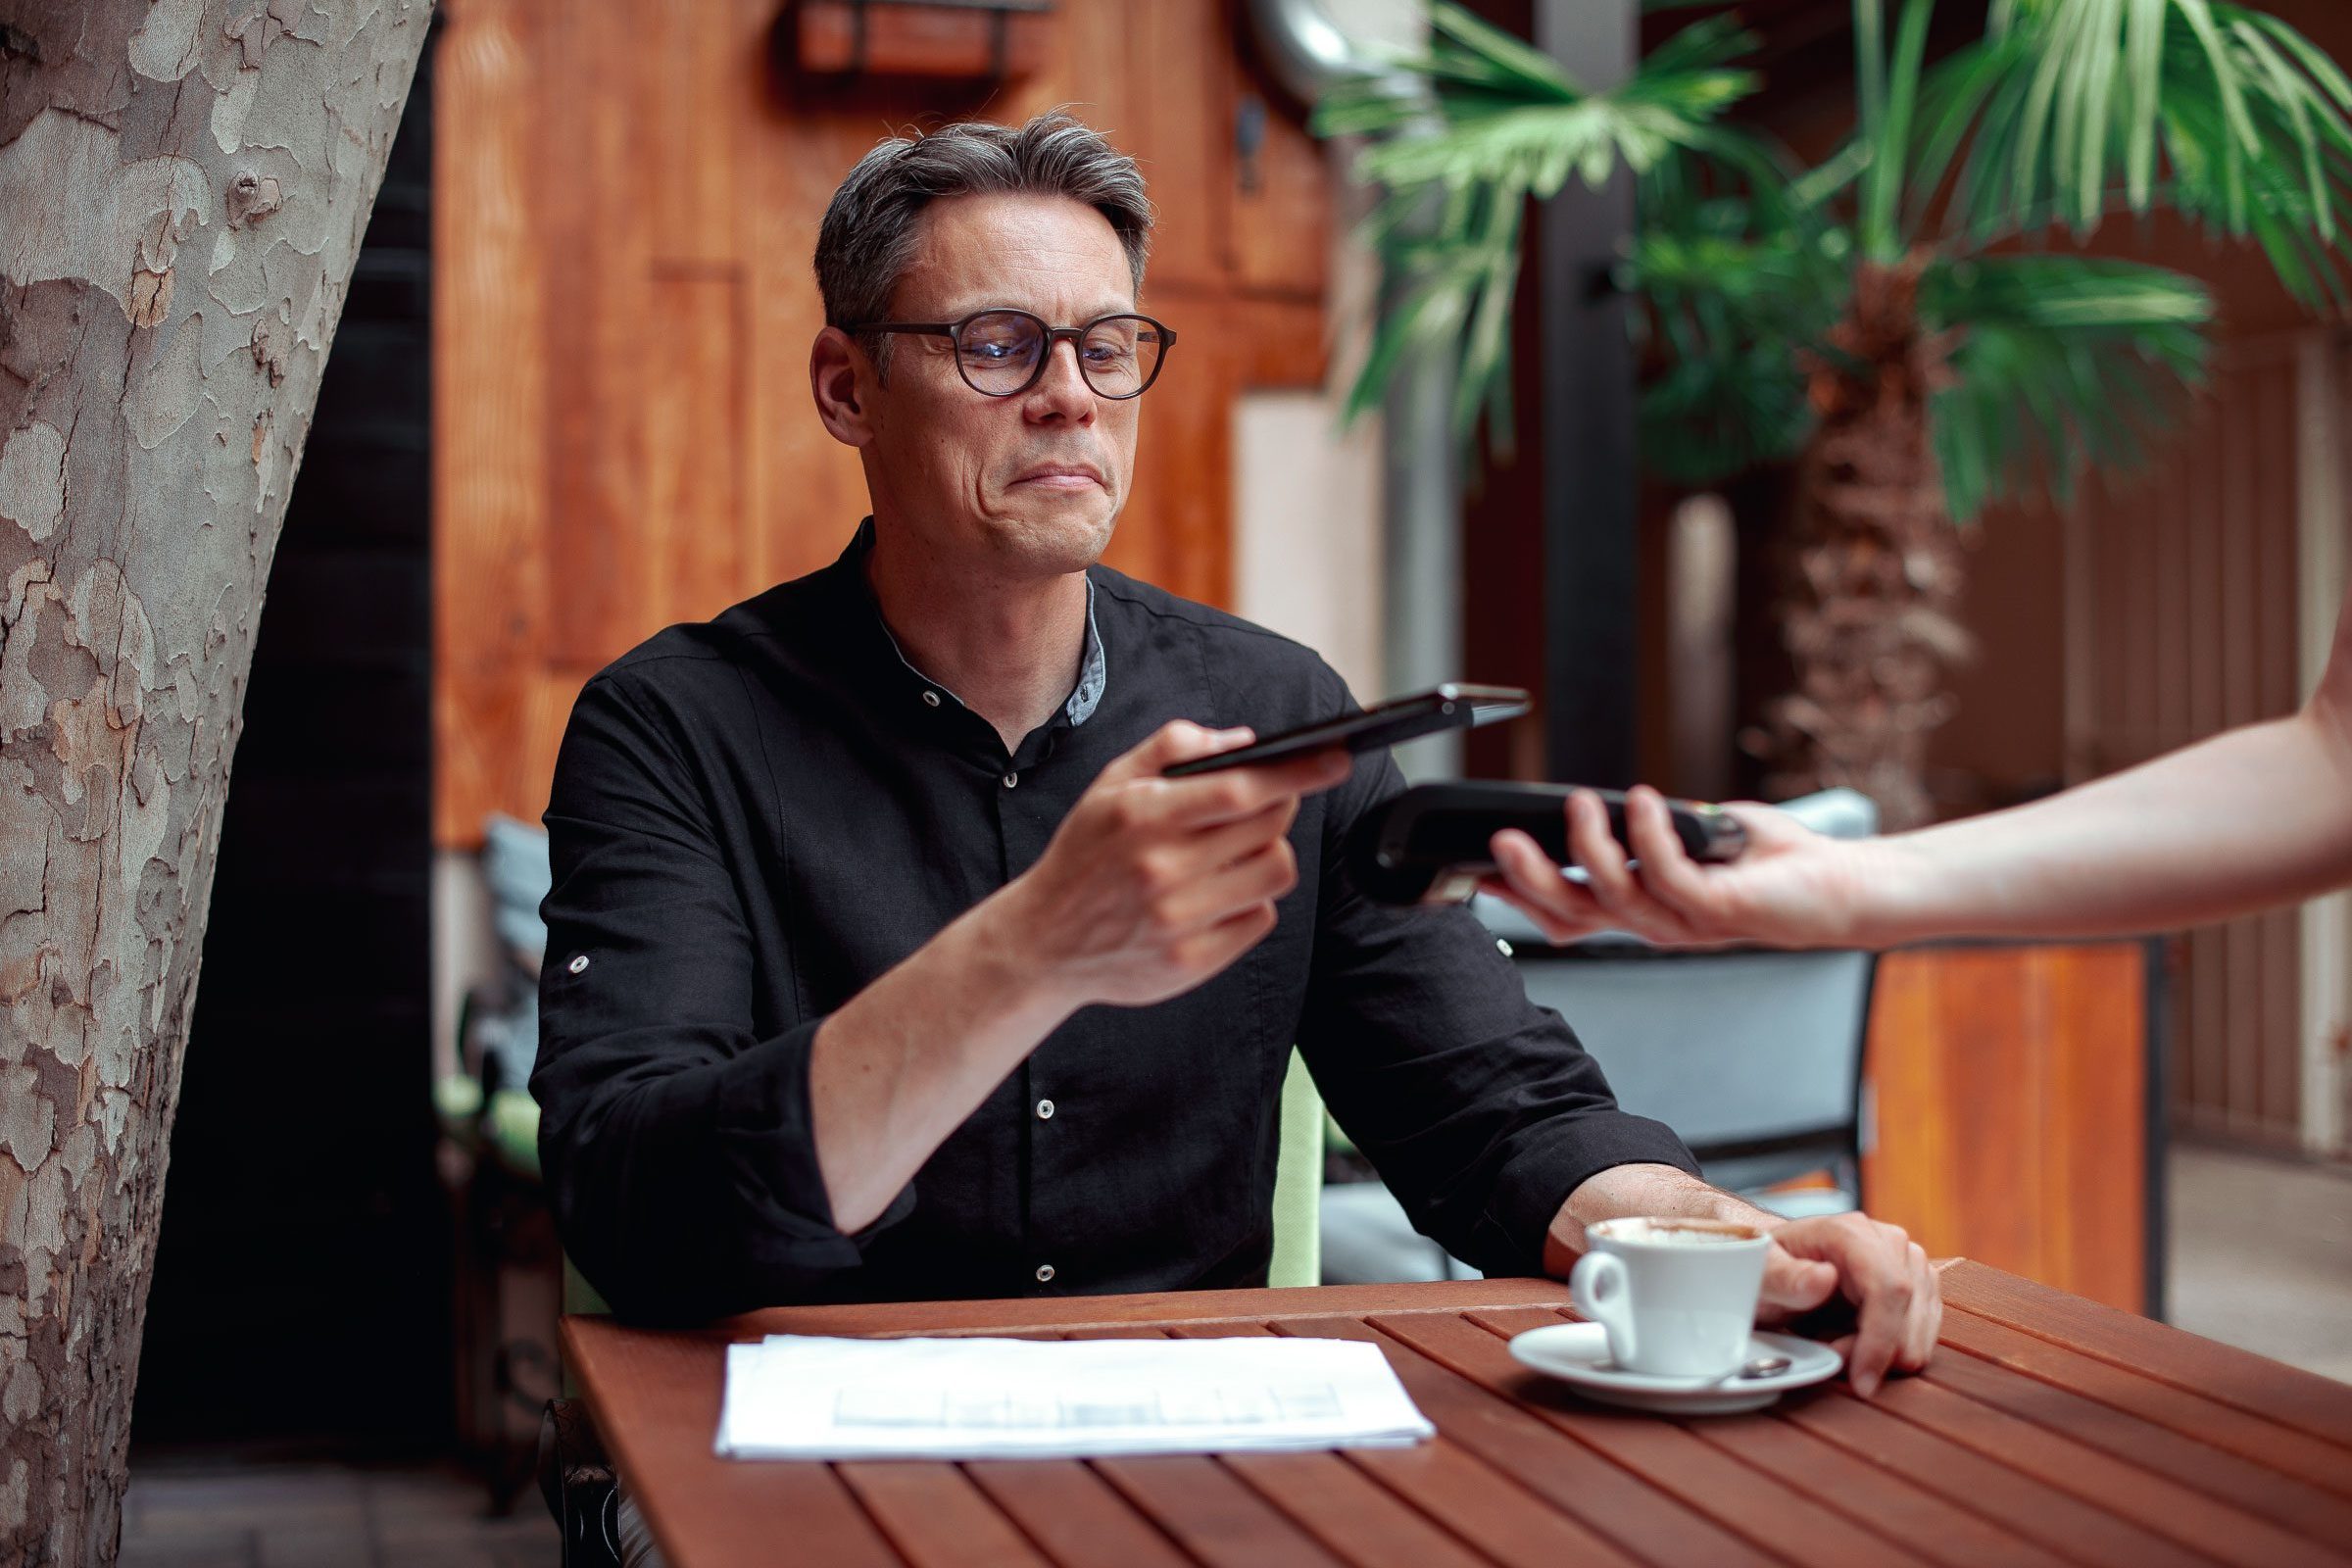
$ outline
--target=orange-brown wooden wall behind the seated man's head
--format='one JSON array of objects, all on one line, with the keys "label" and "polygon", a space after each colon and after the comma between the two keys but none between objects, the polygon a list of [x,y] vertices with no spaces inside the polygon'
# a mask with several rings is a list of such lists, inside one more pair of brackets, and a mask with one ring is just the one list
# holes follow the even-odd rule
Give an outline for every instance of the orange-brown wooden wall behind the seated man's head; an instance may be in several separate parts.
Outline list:
[{"label": "orange-brown wooden wall behind the seated man's head", "polygon": [[[1063,0],[1002,87],[811,85],[776,0],[452,0],[435,172],[435,842],[536,820],[581,682],[673,621],[830,562],[866,510],[816,425],[811,275],[877,139],[1070,103],[1160,207],[1183,336],[1110,562],[1223,602],[1232,404],[1324,376],[1329,193],[1230,0]],[[1244,99],[1268,106],[1237,167]]]}]

